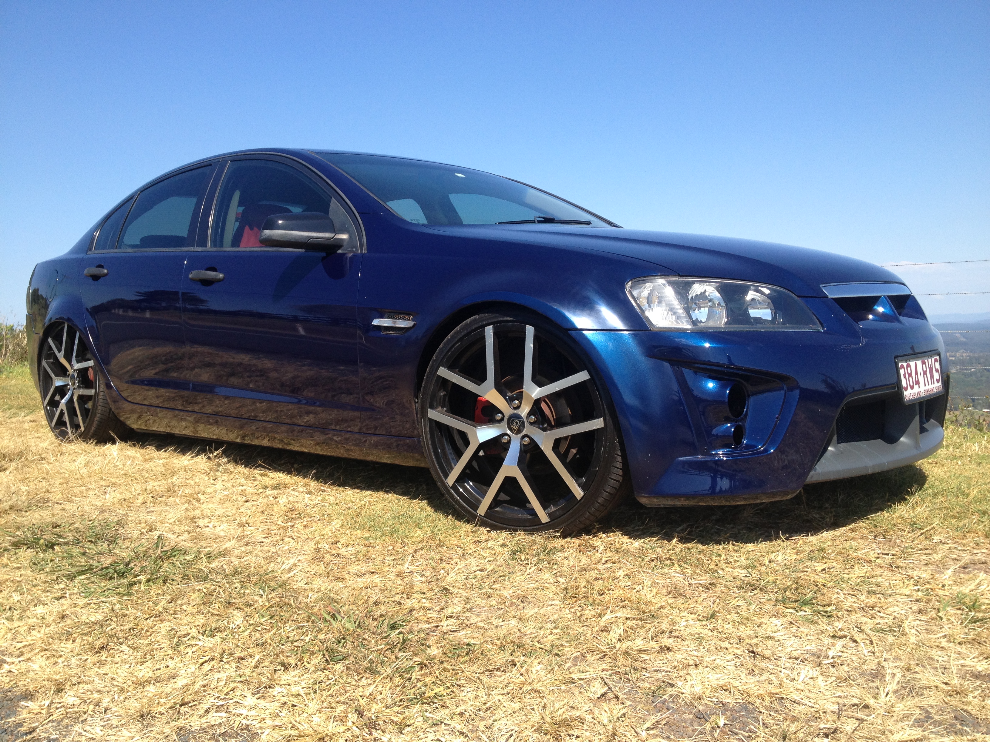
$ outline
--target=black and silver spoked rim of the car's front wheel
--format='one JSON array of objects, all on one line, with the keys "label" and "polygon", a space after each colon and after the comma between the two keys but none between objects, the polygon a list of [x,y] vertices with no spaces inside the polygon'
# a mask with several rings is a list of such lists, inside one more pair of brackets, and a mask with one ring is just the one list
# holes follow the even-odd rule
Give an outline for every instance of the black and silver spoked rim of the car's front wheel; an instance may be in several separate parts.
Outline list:
[{"label": "black and silver spoked rim of the car's front wheel", "polygon": [[605,444],[602,401],[585,364],[516,323],[476,330],[443,361],[429,438],[460,503],[517,528],[572,510],[595,481]]}]

